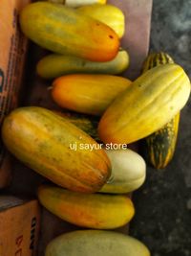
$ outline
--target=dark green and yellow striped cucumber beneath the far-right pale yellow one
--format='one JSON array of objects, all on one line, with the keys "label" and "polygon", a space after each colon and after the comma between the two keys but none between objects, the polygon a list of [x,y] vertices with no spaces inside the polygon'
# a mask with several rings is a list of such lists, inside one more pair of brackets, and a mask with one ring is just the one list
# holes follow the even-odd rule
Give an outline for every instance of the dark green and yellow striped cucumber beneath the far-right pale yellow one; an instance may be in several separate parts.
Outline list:
[{"label": "dark green and yellow striped cucumber beneath the far-right pale yellow one", "polygon": [[[174,60],[166,53],[150,54],[145,59],[142,73]],[[141,141],[141,151],[146,161],[157,169],[163,169],[173,158],[177,143],[180,113],[169,123]]]}]

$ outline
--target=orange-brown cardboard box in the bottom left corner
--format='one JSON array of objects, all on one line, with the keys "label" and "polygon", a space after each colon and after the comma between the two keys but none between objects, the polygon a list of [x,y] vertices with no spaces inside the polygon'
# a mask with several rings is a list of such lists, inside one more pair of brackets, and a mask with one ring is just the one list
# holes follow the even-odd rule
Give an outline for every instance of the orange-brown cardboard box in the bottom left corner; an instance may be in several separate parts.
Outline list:
[{"label": "orange-brown cardboard box in the bottom left corner", "polygon": [[0,256],[36,255],[39,222],[37,200],[0,196]]}]

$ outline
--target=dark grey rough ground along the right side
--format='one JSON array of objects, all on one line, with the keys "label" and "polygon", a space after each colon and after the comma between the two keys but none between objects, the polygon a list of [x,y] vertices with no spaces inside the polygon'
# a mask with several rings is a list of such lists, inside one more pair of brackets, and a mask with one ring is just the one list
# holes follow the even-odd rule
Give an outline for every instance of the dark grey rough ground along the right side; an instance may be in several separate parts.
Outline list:
[{"label": "dark grey rough ground along the right side", "polygon": [[[191,77],[191,1],[154,0],[150,51],[167,52]],[[181,110],[177,149],[165,170],[147,168],[134,193],[130,234],[152,256],[191,255],[191,101]]]}]

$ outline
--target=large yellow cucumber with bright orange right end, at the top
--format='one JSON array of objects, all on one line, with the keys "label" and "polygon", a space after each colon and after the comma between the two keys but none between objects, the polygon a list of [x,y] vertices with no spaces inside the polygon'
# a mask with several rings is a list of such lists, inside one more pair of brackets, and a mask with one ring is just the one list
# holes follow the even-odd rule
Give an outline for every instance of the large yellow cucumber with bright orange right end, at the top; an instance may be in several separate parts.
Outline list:
[{"label": "large yellow cucumber with bright orange right end, at the top", "polygon": [[110,27],[64,5],[29,4],[20,13],[20,26],[35,43],[57,54],[93,61],[117,56],[119,39]]}]

